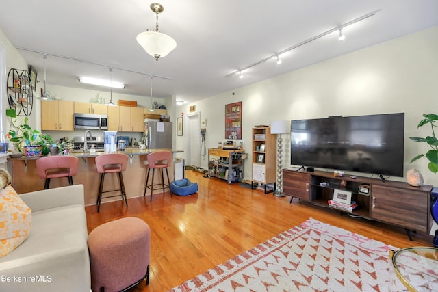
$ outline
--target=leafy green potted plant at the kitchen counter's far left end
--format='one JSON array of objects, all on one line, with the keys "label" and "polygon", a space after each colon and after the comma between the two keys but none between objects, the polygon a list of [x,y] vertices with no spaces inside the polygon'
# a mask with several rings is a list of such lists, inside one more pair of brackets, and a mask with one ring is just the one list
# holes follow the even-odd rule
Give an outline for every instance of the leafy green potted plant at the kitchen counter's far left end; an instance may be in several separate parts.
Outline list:
[{"label": "leafy green potted plant at the kitchen counter's far left end", "polygon": [[12,126],[8,133],[8,139],[16,149],[27,156],[41,156],[42,144],[40,139],[42,134],[29,126],[29,118],[26,116],[23,124],[17,124],[15,109],[6,109],[6,116],[10,118]]}]

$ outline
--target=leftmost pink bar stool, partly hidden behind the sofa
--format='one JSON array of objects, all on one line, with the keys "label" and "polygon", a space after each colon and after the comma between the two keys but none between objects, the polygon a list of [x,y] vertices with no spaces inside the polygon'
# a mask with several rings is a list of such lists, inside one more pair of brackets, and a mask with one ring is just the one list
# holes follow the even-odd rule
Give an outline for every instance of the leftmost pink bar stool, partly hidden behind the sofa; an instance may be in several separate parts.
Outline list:
[{"label": "leftmost pink bar stool, partly hidden behind the sofa", "polygon": [[78,167],[79,159],[73,156],[47,156],[36,160],[38,176],[46,180],[44,189],[49,189],[51,178],[68,177],[68,183],[73,185]]}]

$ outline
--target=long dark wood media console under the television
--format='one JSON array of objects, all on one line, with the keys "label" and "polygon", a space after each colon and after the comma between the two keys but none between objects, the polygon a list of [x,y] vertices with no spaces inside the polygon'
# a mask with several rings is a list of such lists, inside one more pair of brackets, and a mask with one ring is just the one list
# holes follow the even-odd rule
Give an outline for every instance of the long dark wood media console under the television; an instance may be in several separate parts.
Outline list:
[{"label": "long dark wood media console under the television", "polygon": [[332,208],[328,201],[333,200],[335,191],[350,193],[351,201],[357,202],[358,207],[341,212],[400,226],[406,229],[409,239],[411,230],[428,233],[432,227],[431,190],[431,185],[412,187],[398,181],[283,169],[283,194],[314,206]]}]

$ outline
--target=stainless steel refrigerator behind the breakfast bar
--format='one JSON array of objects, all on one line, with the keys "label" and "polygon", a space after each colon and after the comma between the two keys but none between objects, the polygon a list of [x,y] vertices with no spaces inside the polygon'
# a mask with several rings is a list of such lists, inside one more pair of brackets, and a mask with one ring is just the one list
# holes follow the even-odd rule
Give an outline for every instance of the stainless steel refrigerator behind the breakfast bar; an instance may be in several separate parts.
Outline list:
[{"label": "stainless steel refrigerator behind the breakfast bar", "polygon": [[172,148],[172,122],[144,121],[142,142],[146,149]]}]

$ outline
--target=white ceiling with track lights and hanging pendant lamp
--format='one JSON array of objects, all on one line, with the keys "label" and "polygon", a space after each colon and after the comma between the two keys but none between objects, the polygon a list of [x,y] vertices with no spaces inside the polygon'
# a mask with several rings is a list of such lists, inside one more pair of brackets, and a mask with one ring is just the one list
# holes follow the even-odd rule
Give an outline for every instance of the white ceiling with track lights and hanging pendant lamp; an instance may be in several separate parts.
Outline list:
[{"label": "white ceiling with track lights and hanging pendant lamp", "polygon": [[[436,0],[159,0],[159,31],[177,48],[155,61],[136,42],[140,32],[155,28],[151,3],[3,1],[0,29],[40,81],[46,53],[49,84],[104,90],[77,79],[112,78],[126,84],[116,92],[150,96],[154,75],[153,96],[190,103],[438,25]],[[376,10],[345,27],[342,42],[335,31],[281,55],[280,65],[269,59],[244,70],[242,79],[227,76]]]}]

